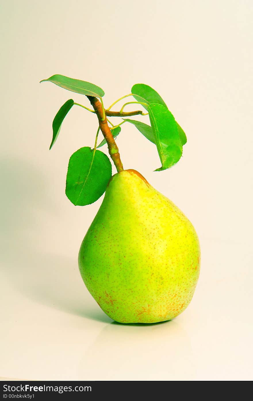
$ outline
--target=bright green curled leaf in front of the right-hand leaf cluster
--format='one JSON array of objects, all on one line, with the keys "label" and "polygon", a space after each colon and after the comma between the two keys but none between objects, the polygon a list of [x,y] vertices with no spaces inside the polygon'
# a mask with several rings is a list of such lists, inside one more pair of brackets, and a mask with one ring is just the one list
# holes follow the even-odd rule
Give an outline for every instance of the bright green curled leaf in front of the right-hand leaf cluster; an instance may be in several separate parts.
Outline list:
[{"label": "bright green curled leaf in front of the right-hand leaf cluster", "polygon": [[148,106],[149,119],[155,144],[161,160],[161,167],[155,171],[166,170],[177,163],[182,155],[182,143],[177,123],[167,107],[151,103]]}]

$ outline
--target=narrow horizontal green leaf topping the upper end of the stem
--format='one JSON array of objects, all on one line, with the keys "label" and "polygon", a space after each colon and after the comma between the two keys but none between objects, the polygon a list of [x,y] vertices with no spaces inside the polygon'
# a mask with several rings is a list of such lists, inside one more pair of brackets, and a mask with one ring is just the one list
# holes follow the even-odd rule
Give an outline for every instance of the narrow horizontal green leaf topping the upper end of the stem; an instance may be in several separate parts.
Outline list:
[{"label": "narrow horizontal green leaf topping the upper end of the stem", "polygon": [[40,82],[49,81],[55,83],[61,88],[68,89],[68,91],[80,93],[81,95],[88,95],[94,97],[103,97],[104,91],[99,86],[93,83],[81,81],[80,79],[73,79],[65,77],[64,75],[52,75],[48,79],[42,79]]}]

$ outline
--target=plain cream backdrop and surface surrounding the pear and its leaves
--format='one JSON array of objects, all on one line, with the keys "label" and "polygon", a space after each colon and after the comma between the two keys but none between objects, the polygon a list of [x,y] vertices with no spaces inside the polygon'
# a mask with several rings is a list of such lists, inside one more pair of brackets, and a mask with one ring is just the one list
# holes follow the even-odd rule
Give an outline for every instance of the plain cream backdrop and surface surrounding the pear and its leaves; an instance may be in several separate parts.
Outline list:
[{"label": "plain cream backdrop and surface surrounding the pear and its leaves", "polygon": [[[14,0],[2,2],[1,18],[0,376],[253,379],[253,3]],[[187,134],[183,158],[164,172],[153,172],[155,147],[134,126],[117,139],[124,168],[141,172],[199,235],[197,289],[171,322],[116,324],[82,282],[78,250],[102,198],[74,207],[65,180],[97,122],[73,107],[49,152],[60,106],[71,97],[88,106],[39,84],[53,74],[101,86],[106,107],[146,83]]]}]

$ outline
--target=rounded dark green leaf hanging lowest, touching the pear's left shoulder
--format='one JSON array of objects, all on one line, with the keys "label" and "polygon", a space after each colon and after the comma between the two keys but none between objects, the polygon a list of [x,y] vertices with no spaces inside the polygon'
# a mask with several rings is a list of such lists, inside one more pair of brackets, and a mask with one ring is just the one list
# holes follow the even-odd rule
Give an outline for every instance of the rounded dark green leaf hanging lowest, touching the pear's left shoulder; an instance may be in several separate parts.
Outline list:
[{"label": "rounded dark green leaf hanging lowest, touching the pear's left shoulder", "polygon": [[112,164],[101,152],[87,146],[70,157],[66,179],[66,195],[76,206],[90,205],[102,196],[112,176]]}]

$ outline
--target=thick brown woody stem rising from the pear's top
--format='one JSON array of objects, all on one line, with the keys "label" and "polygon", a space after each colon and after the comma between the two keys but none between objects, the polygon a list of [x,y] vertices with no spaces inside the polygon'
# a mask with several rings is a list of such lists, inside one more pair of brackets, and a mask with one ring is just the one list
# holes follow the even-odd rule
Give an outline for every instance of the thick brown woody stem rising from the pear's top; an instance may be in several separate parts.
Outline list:
[{"label": "thick brown woody stem rising from the pear's top", "polygon": [[114,137],[112,136],[112,132],[108,126],[108,122],[106,119],[106,115],[104,114],[102,103],[96,97],[93,96],[87,96],[87,97],[90,100],[90,103],[94,108],[95,113],[98,116],[100,130],[107,142],[109,154],[112,158],[112,161],[114,162],[118,172],[123,171],[124,168],[122,161],[120,160],[119,149],[118,146],[116,145]]}]

